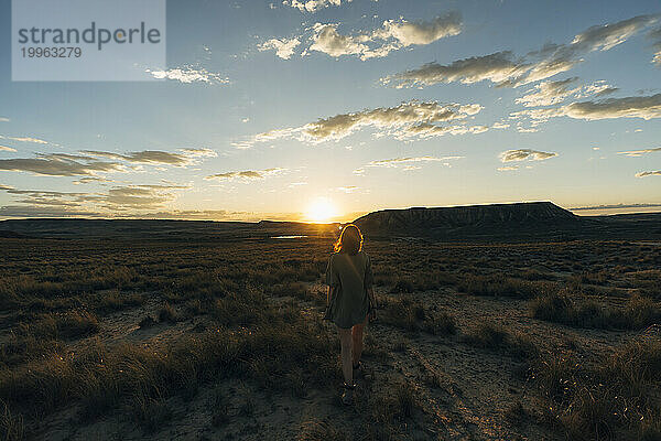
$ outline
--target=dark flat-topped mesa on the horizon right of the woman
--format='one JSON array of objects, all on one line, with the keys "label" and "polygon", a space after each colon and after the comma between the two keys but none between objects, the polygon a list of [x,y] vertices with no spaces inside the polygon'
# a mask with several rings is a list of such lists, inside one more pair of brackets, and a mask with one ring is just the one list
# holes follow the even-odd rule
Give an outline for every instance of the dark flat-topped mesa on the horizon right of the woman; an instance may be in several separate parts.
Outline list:
[{"label": "dark flat-topped mesa on the horizon right of the woman", "polygon": [[661,214],[576,216],[551,202],[382,209],[354,220],[368,237],[448,241],[658,237]]}]

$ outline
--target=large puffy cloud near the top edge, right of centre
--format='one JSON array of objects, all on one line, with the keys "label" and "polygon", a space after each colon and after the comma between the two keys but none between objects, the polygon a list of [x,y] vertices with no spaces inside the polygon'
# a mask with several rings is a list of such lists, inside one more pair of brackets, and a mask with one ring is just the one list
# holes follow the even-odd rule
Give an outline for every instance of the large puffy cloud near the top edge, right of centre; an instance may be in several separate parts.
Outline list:
[{"label": "large puffy cloud near the top edge, right of centre", "polygon": [[426,45],[462,32],[462,17],[447,12],[431,21],[409,22],[404,19],[387,20],[371,32],[344,35],[337,31],[338,23],[315,23],[312,26],[312,44],[303,52],[322,52],[338,57],[358,55],[361,60],[380,58],[392,51],[411,45]]}]

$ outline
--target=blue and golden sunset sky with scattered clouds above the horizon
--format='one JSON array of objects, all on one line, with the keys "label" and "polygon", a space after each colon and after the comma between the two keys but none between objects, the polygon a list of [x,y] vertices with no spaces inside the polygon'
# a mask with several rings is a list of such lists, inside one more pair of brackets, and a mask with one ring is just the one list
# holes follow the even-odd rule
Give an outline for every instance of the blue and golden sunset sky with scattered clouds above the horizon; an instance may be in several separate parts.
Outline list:
[{"label": "blue and golden sunset sky with scattered clouds above the horizon", "polygon": [[[151,82],[12,82],[0,218],[661,211],[650,1],[169,1]],[[36,12],[37,13],[37,12]]]}]

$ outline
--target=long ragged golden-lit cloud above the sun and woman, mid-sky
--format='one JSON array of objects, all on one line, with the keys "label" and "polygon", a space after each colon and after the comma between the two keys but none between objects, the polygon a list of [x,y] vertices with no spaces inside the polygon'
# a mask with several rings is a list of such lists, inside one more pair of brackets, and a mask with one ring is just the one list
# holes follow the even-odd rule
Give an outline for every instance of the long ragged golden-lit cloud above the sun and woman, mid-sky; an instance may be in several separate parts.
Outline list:
[{"label": "long ragged golden-lit cloud above the sun and woman, mid-sky", "polygon": [[316,144],[325,141],[337,141],[364,128],[379,130],[379,136],[390,135],[398,139],[426,138],[443,135],[479,133],[488,130],[485,126],[451,125],[478,114],[483,107],[478,104],[438,104],[436,101],[411,100],[394,107],[378,107],[350,114],[339,114],[322,118],[300,127],[274,129],[256,135],[242,141],[242,148],[256,142],[268,142],[278,139],[297,139]]}]

